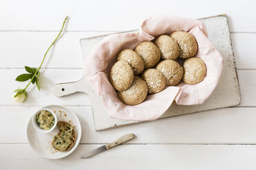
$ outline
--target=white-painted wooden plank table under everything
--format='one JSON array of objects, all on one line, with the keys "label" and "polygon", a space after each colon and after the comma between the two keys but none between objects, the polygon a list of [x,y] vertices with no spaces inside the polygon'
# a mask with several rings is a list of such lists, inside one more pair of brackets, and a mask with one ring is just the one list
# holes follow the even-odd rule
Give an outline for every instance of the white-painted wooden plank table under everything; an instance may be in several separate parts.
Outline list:
[{"label": "white-painted wooden plank table under everything", "polygon": [[[255,1],[32,1],[0,0],[0,169],[255,169],[256,10]],[[228,15],[241,86],[241,104],[95,132],[89,98],[83,93],[57,98],[52,87],[83,76],[79,39],[138,29],[151,14],[194,19]],[[39,66],[65,16],[65,34],[43,64],[41,92],[29,88],[26,104],[12,101],[23,66]],[[41,106],[61,104],[78,115],[81,145],[67,158],[47,160],[28,145],[26,126]],[[81,159],[85,152],[122,134],[137,138]]]}]

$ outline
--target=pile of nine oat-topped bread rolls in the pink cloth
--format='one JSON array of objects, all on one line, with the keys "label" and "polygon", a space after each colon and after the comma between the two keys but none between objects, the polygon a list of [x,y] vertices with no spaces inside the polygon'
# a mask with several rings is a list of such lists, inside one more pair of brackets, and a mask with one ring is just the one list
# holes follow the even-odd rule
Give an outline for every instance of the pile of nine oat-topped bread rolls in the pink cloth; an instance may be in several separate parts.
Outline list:
[{"label": "pile of nine oat-topped bread rolls in the pink cloth", "polygon": [[181,80],[192,85],[201,82],[206,66],[193,57],[197,51],[198,43],[188,32],[161,35],[154,42],[141,42],[134,50],[120,51],[109,80],[123,103],[140,104],[148,93],[159,93]]}]

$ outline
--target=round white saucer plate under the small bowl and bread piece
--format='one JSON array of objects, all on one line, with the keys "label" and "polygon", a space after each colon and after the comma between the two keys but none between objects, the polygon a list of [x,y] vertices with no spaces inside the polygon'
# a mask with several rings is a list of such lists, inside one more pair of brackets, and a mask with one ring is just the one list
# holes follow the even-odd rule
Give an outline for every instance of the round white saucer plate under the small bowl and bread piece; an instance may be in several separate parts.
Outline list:
[{"label": "round white saucer plate under the small bowl and bread piece", "polygon": [[81,130],[81,124],[78,117],[76,116],[76,114],[74,114],[74,112],[65,108],[64,106],[50,105],[50,106],[44,106],[43,108],[62,111],[62,112],[56,112],[57,119],[58,121],[66,121],[75,127],[74,129],[76,132],[76,143],[72,147],[72,149],[70,149],[69,151],[55,150],[52,147],[52,139],[56,134],[58,134],[58,127],[55,127],[55,129],[50,133],[43,134],[41,132],[38,132],[32,125],[32,117],[28,122],[28,127],[27,127],[28,142],[30,143],[34,151],[36,151],[38,154],[40,154],[44,158],[59,159],[59,158],[68,156],[69,154],[72,153],[72,151],[74,151],[74,149],[76,149],[81,139],[82,130]]}]

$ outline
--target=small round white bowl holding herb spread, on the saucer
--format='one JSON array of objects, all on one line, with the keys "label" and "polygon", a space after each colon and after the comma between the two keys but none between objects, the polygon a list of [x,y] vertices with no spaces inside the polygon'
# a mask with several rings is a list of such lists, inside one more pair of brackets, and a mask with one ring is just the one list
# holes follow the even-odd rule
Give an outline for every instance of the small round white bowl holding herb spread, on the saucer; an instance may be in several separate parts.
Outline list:
[{"label": "small round white bowl holding herb spread, on the saucer", "polygon": [[[41,111],[43,110],[46,110],[48,112],[51,112],[52,115],[54,116],[54,119],[55,119],[55,122],[54,122],[54,125],[52,126],[52,128],[50,130],[43,130],[39,127],[39,123],[37,122],[37,119],[36,119],[36,115],[39,114]],[[50,110],[50,109],[47,109],[47,108],[41,108],[39,110],[37,110],[37,112],[33,115],[32,117],[32,124],[34,126],[34,128],[38,131],[38,132],[41,132],[41,133],[49,133],[49,132],[52,132],[52,130],[54,130],[54,128],[56,127],[57,125],[57,117],[56,117],[56,114]]]}]

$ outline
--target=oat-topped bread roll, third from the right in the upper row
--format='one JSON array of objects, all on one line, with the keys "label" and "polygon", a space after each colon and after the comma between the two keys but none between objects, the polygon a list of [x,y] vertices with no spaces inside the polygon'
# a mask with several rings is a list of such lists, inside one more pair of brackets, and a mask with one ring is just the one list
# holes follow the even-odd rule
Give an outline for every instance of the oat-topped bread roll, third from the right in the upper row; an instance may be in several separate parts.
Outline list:
[{"label": "oat-topped bread roll, third from the right in the upper row", "polygon": [[137,45],[135,51],[142,58],[145,64],[145,69],[149,69],[153,66],[156,66],[156,64],[161,58],[160,49],[158,49],[158,47],[153,42],[141,42],[139,45]]}]

